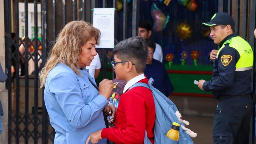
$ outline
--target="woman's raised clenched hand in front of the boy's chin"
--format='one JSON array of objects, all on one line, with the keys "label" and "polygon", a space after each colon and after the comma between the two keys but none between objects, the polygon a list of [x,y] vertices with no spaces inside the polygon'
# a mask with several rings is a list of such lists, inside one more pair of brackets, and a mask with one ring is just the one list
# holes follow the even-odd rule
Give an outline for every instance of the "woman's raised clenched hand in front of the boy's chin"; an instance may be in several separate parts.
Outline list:
[{"label": "woman's raised clenched hand in front of the boy's chin", "polygon": [[111,91],[113,90],[114,83],[112,80],[103,79],[99,83],[99,94],[103,95],[106,99],[110,98]]}]

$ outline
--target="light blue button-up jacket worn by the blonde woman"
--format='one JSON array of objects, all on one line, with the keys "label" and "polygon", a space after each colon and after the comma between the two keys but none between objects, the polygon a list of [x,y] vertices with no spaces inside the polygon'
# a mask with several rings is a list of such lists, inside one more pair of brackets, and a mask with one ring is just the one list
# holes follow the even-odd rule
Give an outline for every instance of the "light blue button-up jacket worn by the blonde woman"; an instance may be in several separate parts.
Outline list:
[{"label": "light blue button-up jacket worn by the blonde woman", "polygon": [[[50,123],[56,131],[54,143],[82,143],[89,135],[105,128],[102,110],[108,104],[89,79],[89,70],[77,75],[67,65],[59,63],[47,75],[44,91]],[[98,143],[106,143],[101,139]]]}]

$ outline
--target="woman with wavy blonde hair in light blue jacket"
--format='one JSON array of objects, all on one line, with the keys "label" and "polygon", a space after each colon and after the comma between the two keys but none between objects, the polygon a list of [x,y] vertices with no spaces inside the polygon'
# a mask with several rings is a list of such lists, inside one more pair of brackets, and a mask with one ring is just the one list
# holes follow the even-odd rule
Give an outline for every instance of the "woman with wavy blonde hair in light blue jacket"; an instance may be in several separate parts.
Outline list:
[{"label": "woman with wavy blonde hair in light blue jacket", "polygon": [[[89,66],[97,54],[100,31],[90,23],[73,21],[59,33],[40,75],[54,143],[85,143],[90,133],[105,128],[103,108],[114,120],[116,109],[107,99],[113,81],[103,79],[96,86]],[[102,139],[99,143],[106,143]]]}]

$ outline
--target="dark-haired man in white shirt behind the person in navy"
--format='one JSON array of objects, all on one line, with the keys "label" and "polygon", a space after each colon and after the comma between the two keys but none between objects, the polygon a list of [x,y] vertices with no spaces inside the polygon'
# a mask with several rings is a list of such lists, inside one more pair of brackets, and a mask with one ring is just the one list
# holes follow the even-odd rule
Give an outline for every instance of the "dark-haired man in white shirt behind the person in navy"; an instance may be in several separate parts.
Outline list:
[{"label": "dark-haired man in white shirt behind the person in navy", "polygon": [[[144,39],[149,39],[152,34],[152,26],[147,21],[139,22],[138,36],[143,37]],[[153,58],[162,62],[163,61],[163,51],[159,44],[155,43],[155,53]]]}]

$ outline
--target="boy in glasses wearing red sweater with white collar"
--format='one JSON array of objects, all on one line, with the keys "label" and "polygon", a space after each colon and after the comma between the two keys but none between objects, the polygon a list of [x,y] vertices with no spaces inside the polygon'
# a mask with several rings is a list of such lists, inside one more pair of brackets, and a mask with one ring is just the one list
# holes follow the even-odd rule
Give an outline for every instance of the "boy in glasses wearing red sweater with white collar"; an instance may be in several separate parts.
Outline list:
[{"label": "boy in glasses wearing red sweater with white collar", "polygon": [[[145,130],[154,143],[155,104],[151,90],[145,87],[129,88],[137,82],[148,84],[144,75],[148,58],[148,47],[142,37],[132,37],[119,42],[114,48],[111,65],[117,79],[127,83],[120,97],[115,127],[92,133],[86,143],[97,143],[107,138],[118,143],[144,143]],[[129,90],[129,91],[128,91]]]}]

